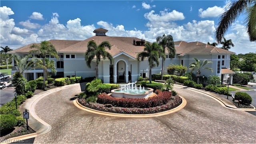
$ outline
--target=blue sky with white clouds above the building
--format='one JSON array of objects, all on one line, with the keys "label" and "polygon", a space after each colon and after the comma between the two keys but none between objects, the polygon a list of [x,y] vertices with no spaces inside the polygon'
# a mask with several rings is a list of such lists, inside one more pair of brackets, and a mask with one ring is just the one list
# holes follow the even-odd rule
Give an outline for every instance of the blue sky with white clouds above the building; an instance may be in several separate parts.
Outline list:
[{"label": "blue sky with white clouds above the building", "polygon": [[[0,42],[11,49],[44,40],[85,40],[93,30],[108,36],[131,36],[156,41],[170,34],[174,41],[216,42],[215,28],[227,0],[1,0]],[[225,35],[236,54],[256,52],[240,16]],[[219,44],[218,47],[222,45]]]}]

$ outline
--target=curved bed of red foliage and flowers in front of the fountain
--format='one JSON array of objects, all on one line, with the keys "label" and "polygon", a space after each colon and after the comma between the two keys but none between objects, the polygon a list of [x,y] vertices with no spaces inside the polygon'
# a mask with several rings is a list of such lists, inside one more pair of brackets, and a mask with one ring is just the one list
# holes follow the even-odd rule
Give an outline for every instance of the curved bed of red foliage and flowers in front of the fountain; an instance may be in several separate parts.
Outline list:
[{"label": "curved bed of red foliage and flowers in front of the fountain", "polygon": [[[111,112],[111,113],[118,113],[118,114],[154,114],[154,113],[158,113],[158,112],[164,112],[166,110],[171,110],[173,108],[176,108],[177,106],[179,106],[182,103],[182,98],[180,98],[180,96],[172,96],[171,92],[160,92],[158,94],[158,96],[156,96],[156,99],[159,100],[159,98],[161,98],[161,96],[163,96],[163,98],[166,98],[166,96],[169,94],[169,98],[166,102],[162,103],[160,102],[158,106],[154,106],[154,107],[145,107],[146,105],[152,105],[150,104],[150,100],[147,101],[146,99],[141,99],[141,101],[146,102],[146,104],[142,104],[144,106],[144,108],[138,108],[138,107],[120,107],[120,105],[113,105],[111,104],[111,107],[108,107],[107,105],[109,105],[109,103],[104,103],[104,104],[100,104],[100,103],[88,103],[86,102],[86,100],[84,98],[79,98],[78,102],[80,104],[82,104],[83,106],[86,106],[88,108],[92,108],[94,110],[99,110],[99,111],[103,111],[103,112]],[[122,100],[122,98],[110,98],[111,96],[108,96],[107,94],[102,94],[100,95],[102,96],[106,96],[106,99],[111,99],[114,100],[116,99],[118,102],[120,102]],[[152,97],[154,98],[154,97]],[[130,98],[129,98],[130,99]],[[139,102],[140,100],[138,98],[132,98],[132,99],[126,99],[126,101],[138,101],[138,103],[140,104],[141,102]],[[124,100],[123,100],[124,101]],[[149,104],[148,104],[149,102]],[[152,101],[151,101],[152,102]],[[124,104],[124,102],[121,102]],[[114,104],[116,104],[116,102],[114,102]],[[124,104],[126,105],[126,104]]]}]

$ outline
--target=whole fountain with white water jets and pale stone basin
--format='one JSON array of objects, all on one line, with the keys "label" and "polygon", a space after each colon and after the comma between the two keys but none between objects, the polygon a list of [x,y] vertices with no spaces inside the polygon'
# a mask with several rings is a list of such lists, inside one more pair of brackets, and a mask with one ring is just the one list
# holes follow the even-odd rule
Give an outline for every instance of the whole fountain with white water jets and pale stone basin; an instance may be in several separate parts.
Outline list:
[{"label": "whole fountain with white water jets and pale stone basin", "polygon": [[111,90],[111,95],[116,98],[148,98],[153,94],[152,88],[137,88],[136,83],[119,84],[119,89]]}]

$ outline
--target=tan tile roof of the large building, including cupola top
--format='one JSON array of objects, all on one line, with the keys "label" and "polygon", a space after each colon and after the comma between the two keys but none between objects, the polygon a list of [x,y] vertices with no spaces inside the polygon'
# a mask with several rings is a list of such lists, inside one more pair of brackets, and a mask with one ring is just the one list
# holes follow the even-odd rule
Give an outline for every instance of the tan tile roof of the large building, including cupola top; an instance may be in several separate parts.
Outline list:
[{"label": "tan tile roof of the large building, including cupola top", "polygon": [[[95,31],[106,31],[103,28],[98,28]],[[110,54],[115,57],[120,53],[128,54],[129,56],[136,58],[139,52],[144,50],[144,46],[135,46],[133,41],[141,41],[139,38],[135,37],[118,37],[118,36],[92,36],[86,40],[49,40],[51,44],[54,45],[59,53],[84,53],[87,50],[87,44],[90,40],[94,40],[97,44],[103,41],[110,42],[112,48],[107,50]],[[39,44],[39,43],[38,43]],[[224,50],[222,48],[217,48],[202,42],[184,42],[177,41],[174,42],[176,54],[179,56],[184,56],[185,54],[202,54],[202,53],[229,53],[235,54],[234,52]],[[32,44],[28,44],[11,52],[10,54],[16,52],[29,52],[32,50],[30,48]],[[166,53],[168,53],[166,49]]]}]

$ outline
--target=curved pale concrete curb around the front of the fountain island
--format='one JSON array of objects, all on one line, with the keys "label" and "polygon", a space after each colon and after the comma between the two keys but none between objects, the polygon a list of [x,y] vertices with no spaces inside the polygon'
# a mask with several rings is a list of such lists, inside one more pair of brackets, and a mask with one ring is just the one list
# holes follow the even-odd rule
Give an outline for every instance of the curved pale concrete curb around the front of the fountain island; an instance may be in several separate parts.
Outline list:
[{"label": "curved pale concrete curb around the front of the fountain island", "polygon": [[78,102],[78,99],[76,98],[76,100],[74,100],[74,105],[78,108],[80,108],[81,110],[85,110],[87,112],[92,112],[94,114],[101,114],[101,115],[105,115],[105,116],[116,116],[116,117],[123,117],[123,118],[149,118],[149,117],[156,117],[156,116],[164,116],[166,114],[171,114],[173,112],[177,112],[178,110],[181,110],[182,108],[184,108],[187,104],[187,101],[180,96],[180,98],[182,98],[182,103],[177,106],[176,108],[173,108],[171,110],[166,110],[164,112],[158,112],[155,114],[117,114],[117,113],[111,113],[111,112],[102,112],[99,110],[94,110],[91,108],[87,108],[85,106],[83,106],[82,104],[80,104]]}]

